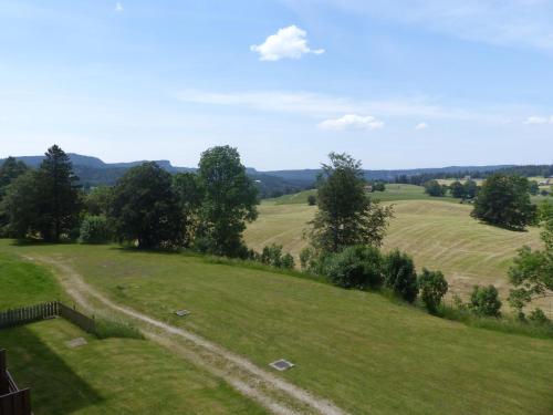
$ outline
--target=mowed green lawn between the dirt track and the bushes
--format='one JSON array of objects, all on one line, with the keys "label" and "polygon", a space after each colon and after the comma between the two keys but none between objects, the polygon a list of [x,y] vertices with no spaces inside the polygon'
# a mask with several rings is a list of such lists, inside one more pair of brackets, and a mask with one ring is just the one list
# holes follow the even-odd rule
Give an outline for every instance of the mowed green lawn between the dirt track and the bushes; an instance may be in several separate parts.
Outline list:
[{"label": "mowed green lawn between the dirt track and the bushes", "polygon": [[[374,293],[185,255],[13,247],[71,264],[113,300],[186,326],[353,414],[553,412],[553,341],[468,328]],[[186,308],[187,319],[173,312]],[[176,382],[176,380],[175,380]]]}]

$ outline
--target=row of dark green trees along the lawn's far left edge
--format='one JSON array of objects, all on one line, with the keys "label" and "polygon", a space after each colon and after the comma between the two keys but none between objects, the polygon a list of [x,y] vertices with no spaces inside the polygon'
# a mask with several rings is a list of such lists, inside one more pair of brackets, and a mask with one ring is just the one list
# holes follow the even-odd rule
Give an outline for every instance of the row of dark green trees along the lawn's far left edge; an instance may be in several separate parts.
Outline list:
[{"label": "row of dark green trees along the lawn's far left edge", "polygon": [[133,167],[113,188],[85,195],[67,155],[51,147],[38,169],[8,159],[0,172],[2,231],[46,241],[118,240],[139,248],[191,247],[247,257],[242,232],[258,195],[236,148],[201,155],[197,174],[170,175],[156,163]]}]

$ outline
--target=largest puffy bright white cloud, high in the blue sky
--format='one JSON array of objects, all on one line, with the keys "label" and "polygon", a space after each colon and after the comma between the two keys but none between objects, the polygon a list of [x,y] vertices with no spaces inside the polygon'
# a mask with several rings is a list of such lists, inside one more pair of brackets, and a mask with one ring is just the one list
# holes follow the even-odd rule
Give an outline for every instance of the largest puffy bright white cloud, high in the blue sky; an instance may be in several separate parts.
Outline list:
[{"label": "largest puffy bright white cloud, high in the blue sky", "polygon": [[281,59],[300,59],[305,53],[322,54],[324,49],[307,46],[307,32],[292,24],[279,29],[261,44],[252,44],[250,50],[260,54],[261,61],[279,61]]}]

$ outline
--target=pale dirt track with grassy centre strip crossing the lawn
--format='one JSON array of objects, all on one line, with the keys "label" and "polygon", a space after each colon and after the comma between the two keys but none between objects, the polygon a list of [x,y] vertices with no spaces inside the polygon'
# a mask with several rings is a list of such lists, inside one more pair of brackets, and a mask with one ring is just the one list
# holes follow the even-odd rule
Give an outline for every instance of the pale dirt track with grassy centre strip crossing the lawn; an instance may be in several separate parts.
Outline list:
[{"label": "pale dirt track with grassy centre strip crossing the lawn", "polygon": [[249,360],[198,334],[113,302],[84,282],[83,278],[63,261],[43,257],[27,259],[54,267],[59,271],[55,274],[65,291],[83,308],[97,312],[98,308],[93,304],[94,302],[139,322],[142,331],[149,340],[223,378],[240,393],[274,414],[346,415],[332,402],[260,369]]}]

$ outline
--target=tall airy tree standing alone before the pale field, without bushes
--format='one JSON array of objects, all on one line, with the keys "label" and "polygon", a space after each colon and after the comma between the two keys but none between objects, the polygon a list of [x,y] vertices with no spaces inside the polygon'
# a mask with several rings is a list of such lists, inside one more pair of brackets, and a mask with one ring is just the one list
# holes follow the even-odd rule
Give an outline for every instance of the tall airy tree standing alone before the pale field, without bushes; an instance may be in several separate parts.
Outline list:
[{"label": "tall airy tree standing alone before the pale field, without bushes", "polygon": [[361,163],[346,154],[330,154],[317,184],[319,210],[310,222],[310,239],[319,251],[338,252],[348,246],[380,246],[392,207],[382,207],[365,193]]}]

